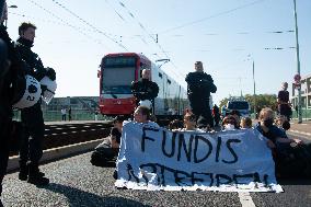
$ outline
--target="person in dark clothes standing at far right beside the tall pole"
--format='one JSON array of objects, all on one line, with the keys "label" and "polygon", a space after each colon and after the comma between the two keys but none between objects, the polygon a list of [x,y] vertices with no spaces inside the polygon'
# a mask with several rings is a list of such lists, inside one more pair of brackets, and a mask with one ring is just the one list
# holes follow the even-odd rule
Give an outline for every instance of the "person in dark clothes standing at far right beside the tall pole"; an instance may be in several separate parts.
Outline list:
[{"label": "person in dark clothes standing at far right beside the tall pole", "polygon": [[289,103],[289,92],[287,91],[287,82],[281,83],[281,90],[278,92],[277,95],[277,104],[279,115],[284,115],[287,117],[287,120],[290,120],[291,107]]}]

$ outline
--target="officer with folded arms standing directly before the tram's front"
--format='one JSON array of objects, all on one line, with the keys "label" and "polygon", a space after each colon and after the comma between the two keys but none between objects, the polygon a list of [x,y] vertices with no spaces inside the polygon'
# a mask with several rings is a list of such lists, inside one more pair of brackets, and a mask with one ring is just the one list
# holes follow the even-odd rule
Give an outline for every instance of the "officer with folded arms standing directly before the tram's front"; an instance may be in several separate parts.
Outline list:
[{"label": "officer with folded arms standing directly before the tram's front", "polygon": [[150,80],[151,71],[143,69],[141,71],[141,80],[131,83],[131,92],[138,102],[149,100],[154,111],[154,99],[158,96],[159,87]]}]

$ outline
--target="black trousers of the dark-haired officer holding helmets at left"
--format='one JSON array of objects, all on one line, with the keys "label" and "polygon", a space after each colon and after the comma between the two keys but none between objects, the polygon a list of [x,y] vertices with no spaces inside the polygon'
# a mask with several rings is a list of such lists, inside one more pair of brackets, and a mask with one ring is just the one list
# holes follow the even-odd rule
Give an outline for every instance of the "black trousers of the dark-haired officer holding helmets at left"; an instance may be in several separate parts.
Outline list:
[{"label": "black trousers of the dark-haired officer holding helmets at left", "polygon": [[23,135],[20,148],[20,164],[38,165],[43,156],[44,119],[41,107],[25,108],[21,113]]}]

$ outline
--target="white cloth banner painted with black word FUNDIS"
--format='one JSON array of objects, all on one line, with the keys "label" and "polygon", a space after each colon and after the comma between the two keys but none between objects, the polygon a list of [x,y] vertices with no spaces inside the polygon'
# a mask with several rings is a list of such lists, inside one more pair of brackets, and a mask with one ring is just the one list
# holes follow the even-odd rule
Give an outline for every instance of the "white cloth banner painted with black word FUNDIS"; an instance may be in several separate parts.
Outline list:
[{"label": "white cloth banner painted with black word FUNDIS", "polygon": [[123,128],[116,187],[148,191],[283,192],[266,138],[257,130],[172,133]]}]

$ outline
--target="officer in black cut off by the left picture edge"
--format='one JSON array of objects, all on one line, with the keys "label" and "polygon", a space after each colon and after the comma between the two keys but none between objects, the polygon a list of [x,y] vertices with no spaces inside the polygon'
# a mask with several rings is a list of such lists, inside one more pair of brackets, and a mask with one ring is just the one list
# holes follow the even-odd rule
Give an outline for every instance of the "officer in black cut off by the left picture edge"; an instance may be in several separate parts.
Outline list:
[{"label": "officer in black cut off by the left picture edge", "polygon": [[[5,0],[0,0],[0,196],[9,160],[12,104],[20,97],[18,82],[24,80],[26,70],[3,25],[8,16],[7,9]],[[0,206],[2,206],[1,199]]]}]

